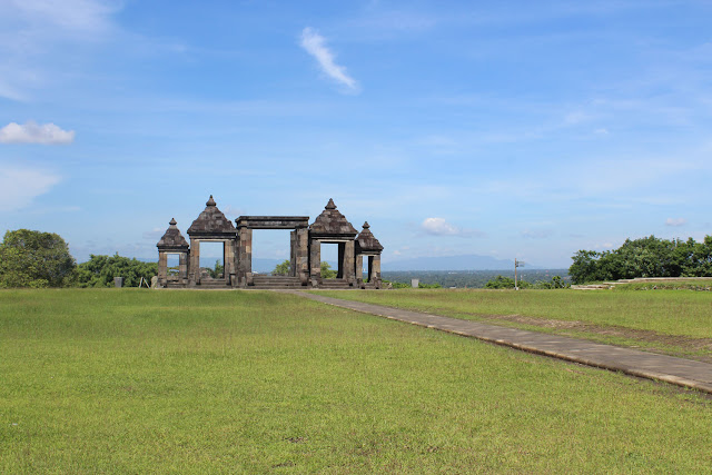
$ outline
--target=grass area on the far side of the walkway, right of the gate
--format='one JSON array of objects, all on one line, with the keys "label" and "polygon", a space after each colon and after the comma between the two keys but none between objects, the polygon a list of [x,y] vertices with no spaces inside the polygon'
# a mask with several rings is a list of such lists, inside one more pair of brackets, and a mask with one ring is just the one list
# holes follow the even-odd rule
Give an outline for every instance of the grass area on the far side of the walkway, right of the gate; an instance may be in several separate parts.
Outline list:
[{"label": "grass area on the far side of the walkway, right of the gate", "polygon": [[320,295],[712,362],[712,293],[398,289]]}]

